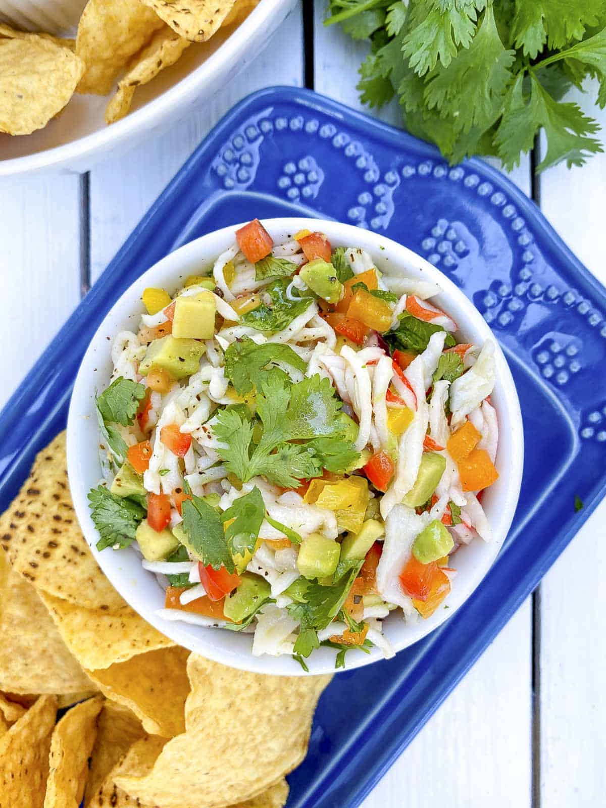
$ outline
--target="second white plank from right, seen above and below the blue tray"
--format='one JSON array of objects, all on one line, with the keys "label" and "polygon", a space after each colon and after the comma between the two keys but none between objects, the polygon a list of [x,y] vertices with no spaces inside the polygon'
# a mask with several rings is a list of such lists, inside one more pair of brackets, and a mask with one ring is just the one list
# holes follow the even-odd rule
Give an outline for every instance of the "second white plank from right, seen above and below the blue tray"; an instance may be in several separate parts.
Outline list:
[{"label": "second white plank from right, seen above and below the blue tray", "polygon": [[[322,20],[322,3],[317,3],[315,89],[364,109],[356,90],[356,71],[368,44],[352,44],[339,27],[325,27]],[[398,124],[398,112],[397,103],[392,102],[373,114]],[[511,179],[528,193],[528,161]],[[530,722],[531,609],[527,601],[367,797],[364,808],[529,806]]]}]

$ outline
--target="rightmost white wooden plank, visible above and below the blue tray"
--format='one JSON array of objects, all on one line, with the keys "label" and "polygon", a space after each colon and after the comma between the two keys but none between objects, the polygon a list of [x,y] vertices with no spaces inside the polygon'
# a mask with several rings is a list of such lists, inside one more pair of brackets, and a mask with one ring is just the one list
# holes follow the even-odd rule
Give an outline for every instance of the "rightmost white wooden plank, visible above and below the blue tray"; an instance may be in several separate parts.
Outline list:
[{"label": "rightmost white wooden plank, visible above and below the blue tray", "polygon": [[[576,101],[597,118],[595,84]],[[606,284],[606,154],[583,169],[541,177],[541,209],[568,246]],[[604,313],[606,314],[606,313]],[[579,491],[581,497],[583,492]],[[598,806],[606,798],[606,501],[541,584],[541,805]]]}]

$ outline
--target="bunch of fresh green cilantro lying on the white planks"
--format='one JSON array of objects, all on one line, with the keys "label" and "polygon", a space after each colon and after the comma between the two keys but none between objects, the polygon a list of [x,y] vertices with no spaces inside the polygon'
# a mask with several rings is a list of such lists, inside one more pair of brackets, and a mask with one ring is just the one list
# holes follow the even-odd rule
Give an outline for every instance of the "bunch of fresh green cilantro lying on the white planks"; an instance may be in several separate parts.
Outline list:
[{"label": "bunch of fresh green cilantro lying on the white planks", "polygon": [[450,162],[493,155],[511,169],[541,128],[540,171],[603,151],[595,120],[561,99],[592,77],[606,105],[604,0],[330,0],[332,23],[370,40],[362,101],[397,96],[408,131]]}]

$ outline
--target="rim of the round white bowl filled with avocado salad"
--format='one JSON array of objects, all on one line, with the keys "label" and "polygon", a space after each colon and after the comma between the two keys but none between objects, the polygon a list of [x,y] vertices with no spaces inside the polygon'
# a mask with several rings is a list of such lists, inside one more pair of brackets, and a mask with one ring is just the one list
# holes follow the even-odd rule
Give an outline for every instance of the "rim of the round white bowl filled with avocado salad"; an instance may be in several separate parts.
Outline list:
[{"label": "rim of the round white bowl filled with avocado salad", "polygon": [[[95,332],[95,336],[91,339],[80,368],[78,368],[78,374],[74,382],[74,389],[69,403],[67,423],[67,467],[69,485],[74,500],[76,516],[78,517],[78,522],[91,552],[112,585],[116,587],[120,595],[124,597],[124,600],[126,600],[145,621],[154,625],[156,629],[175,642],[178,642],[179,645],[185,646],[195,653],[199,653],[208,659],[213,659],[216,662],[229,665],[230,667],[238,667],[242,670],[266,674],[305,675],[305,671],[302,671],[298,665],[292,665],[292,658],[289,654],[284,654],[280,657],[269,655],[254,657],[250,653],[250,650],[248,650],[246,654],[242,654],[240,651],[237,653],[226,653],[225,648],[220,647],[221,642],[219,642],[218,645],[213,642],[212,635],[216,635],[219,632],[223,635],[227,634],[229,637],[238,635],[235,635],[233,632],[225,632],[223,629],[204,628],[200,632],[200,626],[193,626],[179,621],[165,621],[161,617],[158,617],[154,611],[158,606],[151,608],[142,602],[145,600],[145,595],[141,596],[141,592],[137,590],[137,587],[128,587],[124,581],[116,582],[116,572],[112,570],[112,566],[115,565],[112,565],[112,562],[110,562],[110,559],[116,558],[116,554],[103,554],[103,551],[99,553],[95,548],[98,534],[90,518],[86,500],[88,490],[86,490],[85,486],[82,484],[83,475],[78,460],[80,455],[78,447],[82,446],[78,432],[83,428],[82,418],[88,417],[82,415],[82,406],[84,406],[85,402],[90,402],[90,396],[94,390],[94,378],[91,374],[96,370],[96,368],[93,368],[93,365],[100,361],[99,357],[95,356],[95,352],[97,349],[103,347],[107,354],[107,339],[109,339],[107,334],[116,333],[115,326],[111,326],[112,330],[109,330],[109,323],[112,319],[116,318],[116,314],[118,315],[118,319],[121,320],[124,320],[124,318],[128,316],[128,312],[134,314],[134,309],[137,302],[140,300],[140,290],[142,291],[147,285],[154,285],[153,279],[156,276],[167,274],[168,276],[178,279],[179,274],[183,274],[182,269],[187,265],[187,261],[196,260],[196,255],[200,254],[200,252],[204,255],[204,259],[207,262],[212,260],[216,255],[219,255],[221,250],[225,250],[229,244],[234,242],[234,232],[239,226],[242,226],[242,224],[245,224],[245,222],[214,230],[200,238],[188,242],[169,255],[166,255],[163,259],[155,263],[153,267],[149,267],[147,271],[139,276],[119,297],[114,305],[112,305],[112,308],[109,309],[105,318],[103,318],[103,322],[101,322]],[[463,586],[464,582],[461,581],[459,587],[455,585],[452,588],[452,592],[448,597],[448,610],[442,609],[440,612],[435,612],[428,620],[417,621],[417,623],[410,626],[407,625],[405,630],[402,631],[402,642],[394,643],[392,640],[393,650],[398,653],[426,637],[427,634],[447,621],[449,617],[452,617],[452,615],[457,612],[458,608],[461,608],[469,595],[473,593],[476,587],[482,582],[482,579],[485,578],[488,570],[490,570],[490,567],[503,546],[507,532],[511,527],[511,521],[513,520],[520,495],[524,464],[524,432],[520,402],[517,396],[516,386],[511,377],[511,370],[509,369],[507,360],[505,360],[503,351],[499,347],[499,343],[494,337],[494,334],[473,303],[465,297],[461,289],[458,288],[448,276],[445,276],[443,272],[428,263],[426,259],[423,259],[407,247],[381,234],[376,234],[370,230],[361,229],[355,225],[347,225],[334,220],[322,220],[310,217],[277,217],[263,219],[263,225],[271,234],[276,232],[280,234],[292,234],[305,227],[309,229],[320,229],[322,232],[326,233],[330,241],[335,244],[342,243],[343,246],[355,244],[356,246],[361,246],[363,249],[369,250],[375,259],[381,258],[383,261],[386,260],[388,262],[393,260],[394,265],[403,265],[406,276],[415,275],[415,272],[410,270],[410,262],[414,263],[418,268],[419,275],[423,273],[424,280],[439,283],[442,289],[440,294],[444,294],[445,297],[448,297],[448,300],[452,299],[456,301],[457,305],[461,309],[464,309],[465,325],[463,326],[463,330],[465,330],[465,326],[469,326],[478,331],[484,341],[486,341],[486,339],[492,339],[495,345],[497,379],[494,392],[497,393],[498,391],[499,421],[507,421],[511,429],[505,436],[503,436],[503,431],[499,431],[499,452],[505,452],[507,454],[508,473],[504,494],[499,499],[498,508],[495,506],[495,510],[498,511],[496,524],[494,524],[495,520],[491,519],[494,538],[490,544],[480,544],[479,540],[475,540],[471,545],[468,545],[469,547],[476,546],[486,549],[486,552],[482,554],[482,563],[478,564],[477,567],[474,566],[473,574],[469,575],[469,581],[465,587]],[[379,250],[381,250],[381,252],[379,252]],[[393,259],[391,258],[392,255]],[[182,269],[180,270],[179,267],[182,267]],[[124,309],[124,312],[119,313],[120,309]],[[107,326],[106,323],[108,324]],[[504,447],[506,447],[507,450]],[[137,569],[137,574],[139,574],[139,569],[141,570],[141,574],[146,573],[146,570],[140,566]],[[112,571],[114,572],[113,577]],[[153,575],[153,573],[149,574]],[[194,636],[194,632],[192,632],[191,629],[198,629],[196,636]],[[307,660],[310,674],[319,675],[335,672],[333,651],[330,651],[330,657],[323,654],[322,660],[319,660],[320,655],[325,650],[328,649],[320,649],[314,652],[312,657]],[[370,654],[350,655],[347,658],[347,671],[376,662],[380,659],[383,659],[383,654],[377,647],[375,647]],[[284,665],[284,662],[288,664],[288,669]],[[272,668],[275,668],[275,670],[272,670]]]}]

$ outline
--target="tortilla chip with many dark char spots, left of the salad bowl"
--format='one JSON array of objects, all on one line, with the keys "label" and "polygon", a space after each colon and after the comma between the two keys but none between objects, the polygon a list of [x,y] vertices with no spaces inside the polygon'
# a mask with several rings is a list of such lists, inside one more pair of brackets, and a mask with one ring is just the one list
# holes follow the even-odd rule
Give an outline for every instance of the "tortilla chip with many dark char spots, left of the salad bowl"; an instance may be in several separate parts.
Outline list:
[{"label": "tortilla chip with many dark char spots, left of the salad bowl", "polygon": [[0,516],[0,545],[13,568],[36,589],[103,612],[126,606],[93,558],[76,520],[65,432],[38,454],[19,495]]}]

